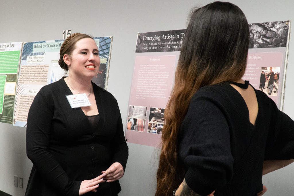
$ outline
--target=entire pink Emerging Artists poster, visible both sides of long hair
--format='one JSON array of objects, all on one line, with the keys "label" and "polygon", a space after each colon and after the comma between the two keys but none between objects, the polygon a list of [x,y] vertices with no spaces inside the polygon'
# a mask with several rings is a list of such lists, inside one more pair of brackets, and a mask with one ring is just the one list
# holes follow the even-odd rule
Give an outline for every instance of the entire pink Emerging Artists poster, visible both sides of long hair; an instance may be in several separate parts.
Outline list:
[{"label": "entire pink Emerging Artists poster, visible both sides of long hair", "polygon": [[[282,110],[290,21],[254,23],[249,28],[250,46],[243,80],[265,92]],[[165,108],[184,36],[185,30],[138,33],[125,121],[127,142],[160,146]]]}]

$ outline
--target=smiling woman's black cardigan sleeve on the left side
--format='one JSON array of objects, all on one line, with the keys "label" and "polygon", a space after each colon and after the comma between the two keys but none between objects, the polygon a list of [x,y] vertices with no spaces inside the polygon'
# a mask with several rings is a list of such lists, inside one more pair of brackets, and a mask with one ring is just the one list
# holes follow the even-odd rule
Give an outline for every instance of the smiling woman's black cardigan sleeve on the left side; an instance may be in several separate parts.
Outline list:
[{"label": "smiling woman's black cardigan sleeve on the left side", "polygon": [[26,129],[27,156],[53,189],[63,195],[78,195],[81,181],[70,180],[49,150],[51,121],[54,115],[54,102],[50,97],[52,95],[41,89],[29,109]]}]

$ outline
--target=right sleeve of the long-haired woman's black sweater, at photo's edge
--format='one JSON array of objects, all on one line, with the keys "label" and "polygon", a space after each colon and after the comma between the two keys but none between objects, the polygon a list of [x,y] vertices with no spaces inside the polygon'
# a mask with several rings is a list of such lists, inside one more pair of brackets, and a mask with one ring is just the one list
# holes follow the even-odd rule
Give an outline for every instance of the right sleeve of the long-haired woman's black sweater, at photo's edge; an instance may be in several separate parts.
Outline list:
[{"label": "right sleeve of the long-haired woman's black sweater, at photo's edge", "polygon": [[271,100],[271,107],[265,160],[293,159],[294,121],[280,111],[273,100]]}]

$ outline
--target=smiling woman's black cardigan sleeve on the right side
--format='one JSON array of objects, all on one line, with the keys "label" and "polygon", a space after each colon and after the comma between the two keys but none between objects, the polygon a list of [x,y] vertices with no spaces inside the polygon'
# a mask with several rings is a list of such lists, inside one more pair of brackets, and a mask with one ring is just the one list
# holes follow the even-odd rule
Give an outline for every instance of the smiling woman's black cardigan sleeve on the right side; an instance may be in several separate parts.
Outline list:
[{"label": "smiling woman's black cardigan sleeve on the right side", "polygon": [[[116,100],[115,100],[116,102]],[[123,171],[126,169],[126,164],[128,160],[128,146],[126,144],[126,139],[123,133],[123,123],[121,120],[121,113],[118,108],[117,102],[115,103],[118,111],[116,134],[111,141],[111,148],[113,151],[112,163],[118,162],[123,166]]]}]

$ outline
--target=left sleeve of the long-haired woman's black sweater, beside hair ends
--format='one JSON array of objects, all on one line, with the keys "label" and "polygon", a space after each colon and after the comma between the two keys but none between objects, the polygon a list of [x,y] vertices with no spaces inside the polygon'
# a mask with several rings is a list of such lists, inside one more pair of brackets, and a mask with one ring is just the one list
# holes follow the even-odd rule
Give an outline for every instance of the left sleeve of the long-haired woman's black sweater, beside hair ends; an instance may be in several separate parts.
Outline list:
[{"label": "left sleeve of the long-haired woman's black sweater, beside hair ends", "polygon": [[182,123],[181,141],[188,156],[184,158],[187,185],[200,195],[224,186],[233,176],[230,130],[223,111],[206,98],[192,99]]}]

